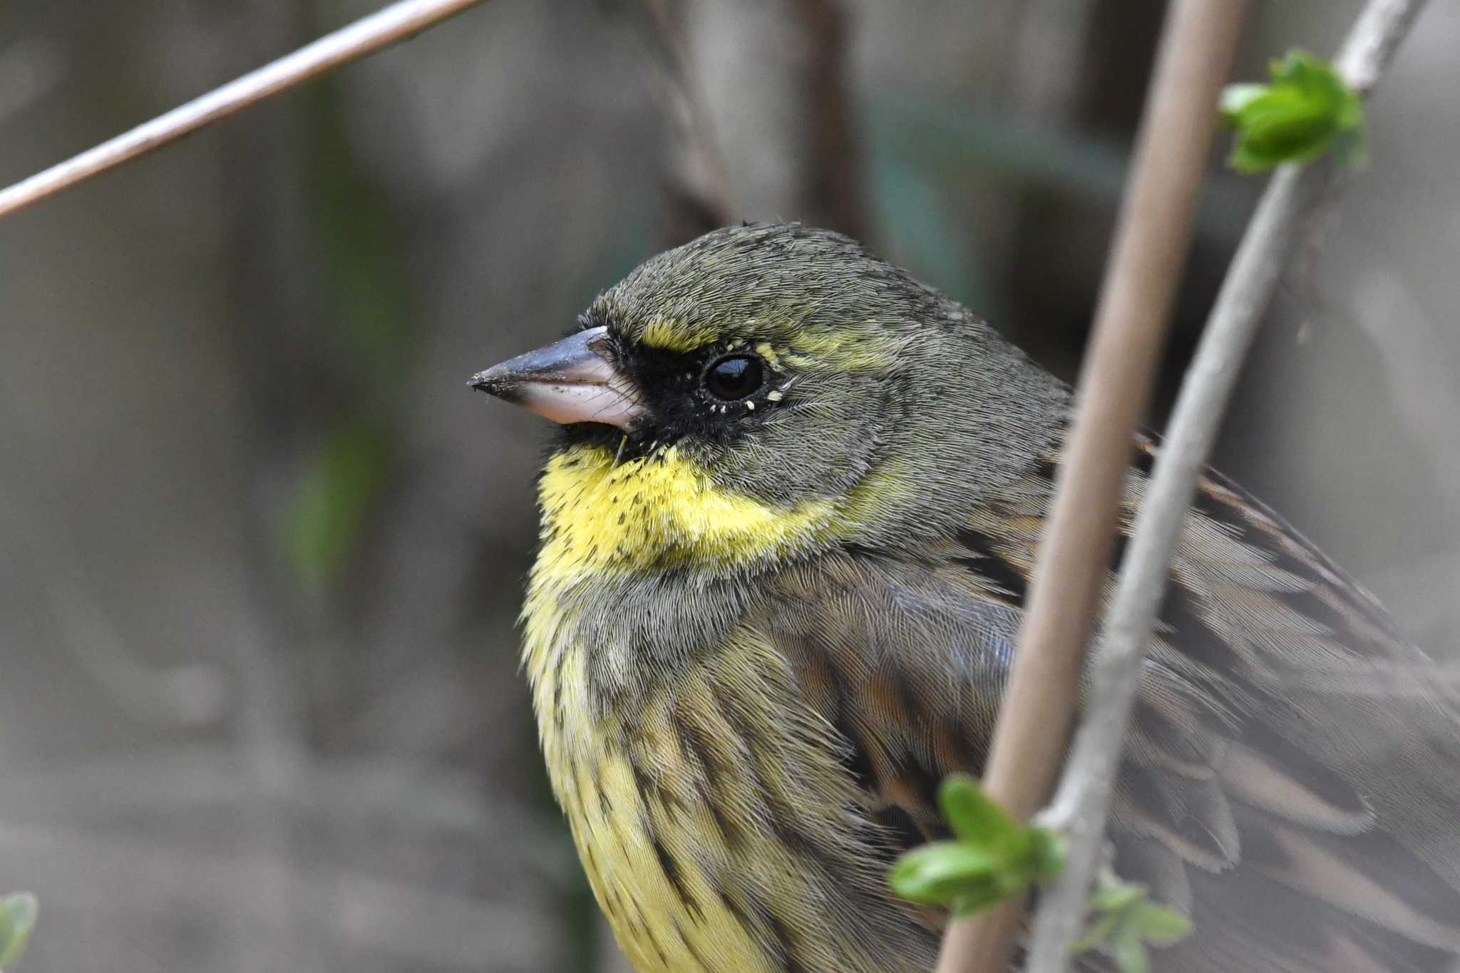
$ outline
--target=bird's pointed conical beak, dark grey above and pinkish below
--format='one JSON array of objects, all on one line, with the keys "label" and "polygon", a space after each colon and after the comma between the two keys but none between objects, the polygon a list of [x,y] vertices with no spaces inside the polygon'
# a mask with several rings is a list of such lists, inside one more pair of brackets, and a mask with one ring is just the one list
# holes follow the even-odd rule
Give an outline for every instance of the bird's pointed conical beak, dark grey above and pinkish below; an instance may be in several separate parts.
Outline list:
[{"label": "bird's pointed conical beak, dark grey above and pinkish below", "polygon": [[472,376],[472,388],[559,423],[597,422],[628,429],[645,408],[613,366],[607,328],[588,328]]}]

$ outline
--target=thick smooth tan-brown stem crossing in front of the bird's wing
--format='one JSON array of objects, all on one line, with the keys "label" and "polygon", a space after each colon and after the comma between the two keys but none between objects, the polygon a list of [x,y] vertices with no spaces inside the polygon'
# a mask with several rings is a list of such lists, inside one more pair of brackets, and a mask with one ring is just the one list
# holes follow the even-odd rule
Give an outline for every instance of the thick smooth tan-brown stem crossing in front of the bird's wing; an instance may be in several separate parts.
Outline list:
[{"label": "thick smooth tan-brown stem crossing in front of the bird's wing", "polygon": [[[1019,820],[1045,801],[1064,756],[1132,441],[1161,359],[1244,9],[1240,0],[1177,0],[1167,15],[1054,508],[984,769],[990,796]],[[939,973],[1003,970],[1019,913],[1010,903],[949,925]]]}]

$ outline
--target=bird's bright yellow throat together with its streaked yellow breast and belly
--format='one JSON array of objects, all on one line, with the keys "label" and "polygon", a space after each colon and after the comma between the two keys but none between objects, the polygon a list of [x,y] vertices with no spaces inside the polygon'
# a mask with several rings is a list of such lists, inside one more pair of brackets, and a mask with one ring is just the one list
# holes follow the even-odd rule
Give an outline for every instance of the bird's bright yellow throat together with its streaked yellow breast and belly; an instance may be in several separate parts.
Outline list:
[{"label": "bird's bright yellow throat together with its streaked yellow breast and belly", "polygon": [[[524,667],[553,791],[635,967],[911,969],[870,955],[831,918],[837,896],[885,887],[848,811],[857,795],[835,731],[775,646],[727,630],[720,645],[692,646],[692,664],[645,674],[631,706],[612,708],[593,699],[597,646],[584,633],[594,626],[574,616],[583,585],[685,560],[733,569],[787,557],[822,543],[838,511],[726,493],[675,449],[615,462],[587,446],[549,462],[540,502]],[[788,836],[809,837],[793,849]],[[882,907],[856,903],[842,910],[870,918]]]}]

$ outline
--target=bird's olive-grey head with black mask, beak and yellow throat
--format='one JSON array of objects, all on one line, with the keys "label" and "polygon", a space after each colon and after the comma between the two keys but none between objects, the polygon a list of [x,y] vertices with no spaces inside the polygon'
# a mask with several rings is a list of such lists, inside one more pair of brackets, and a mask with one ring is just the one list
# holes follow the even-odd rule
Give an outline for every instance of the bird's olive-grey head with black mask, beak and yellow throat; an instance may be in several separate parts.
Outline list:
[{"label": "bird's olive-grey head with black mask, beak and yellow throat", "polygon": [[743,567],[895,532],[943,480],[945,499],[967,493],[959,464],[1004,465],[1018,438],[1019,410],[1002,404],[1051,397],[1034,375],[856,241],[748,225],[648,260],[581,330],[472,384],[565,425],[543,480],[549,522],[556,509],[559,525],[585,528],[602,492],[609,508],[651,509],[603,511],[647,527],[587,531],[600,554]]}]

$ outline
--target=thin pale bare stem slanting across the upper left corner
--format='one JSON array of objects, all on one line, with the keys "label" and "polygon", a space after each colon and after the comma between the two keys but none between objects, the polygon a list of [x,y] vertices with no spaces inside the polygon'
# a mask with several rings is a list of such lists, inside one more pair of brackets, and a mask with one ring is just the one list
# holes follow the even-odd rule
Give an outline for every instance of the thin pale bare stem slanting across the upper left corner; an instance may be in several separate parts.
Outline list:
[{"label": "thin pale bare stem slanting across the upper left corner", "polygon": [[0,219],[486,0],[400,0],[115,139],[0,190]]}]

